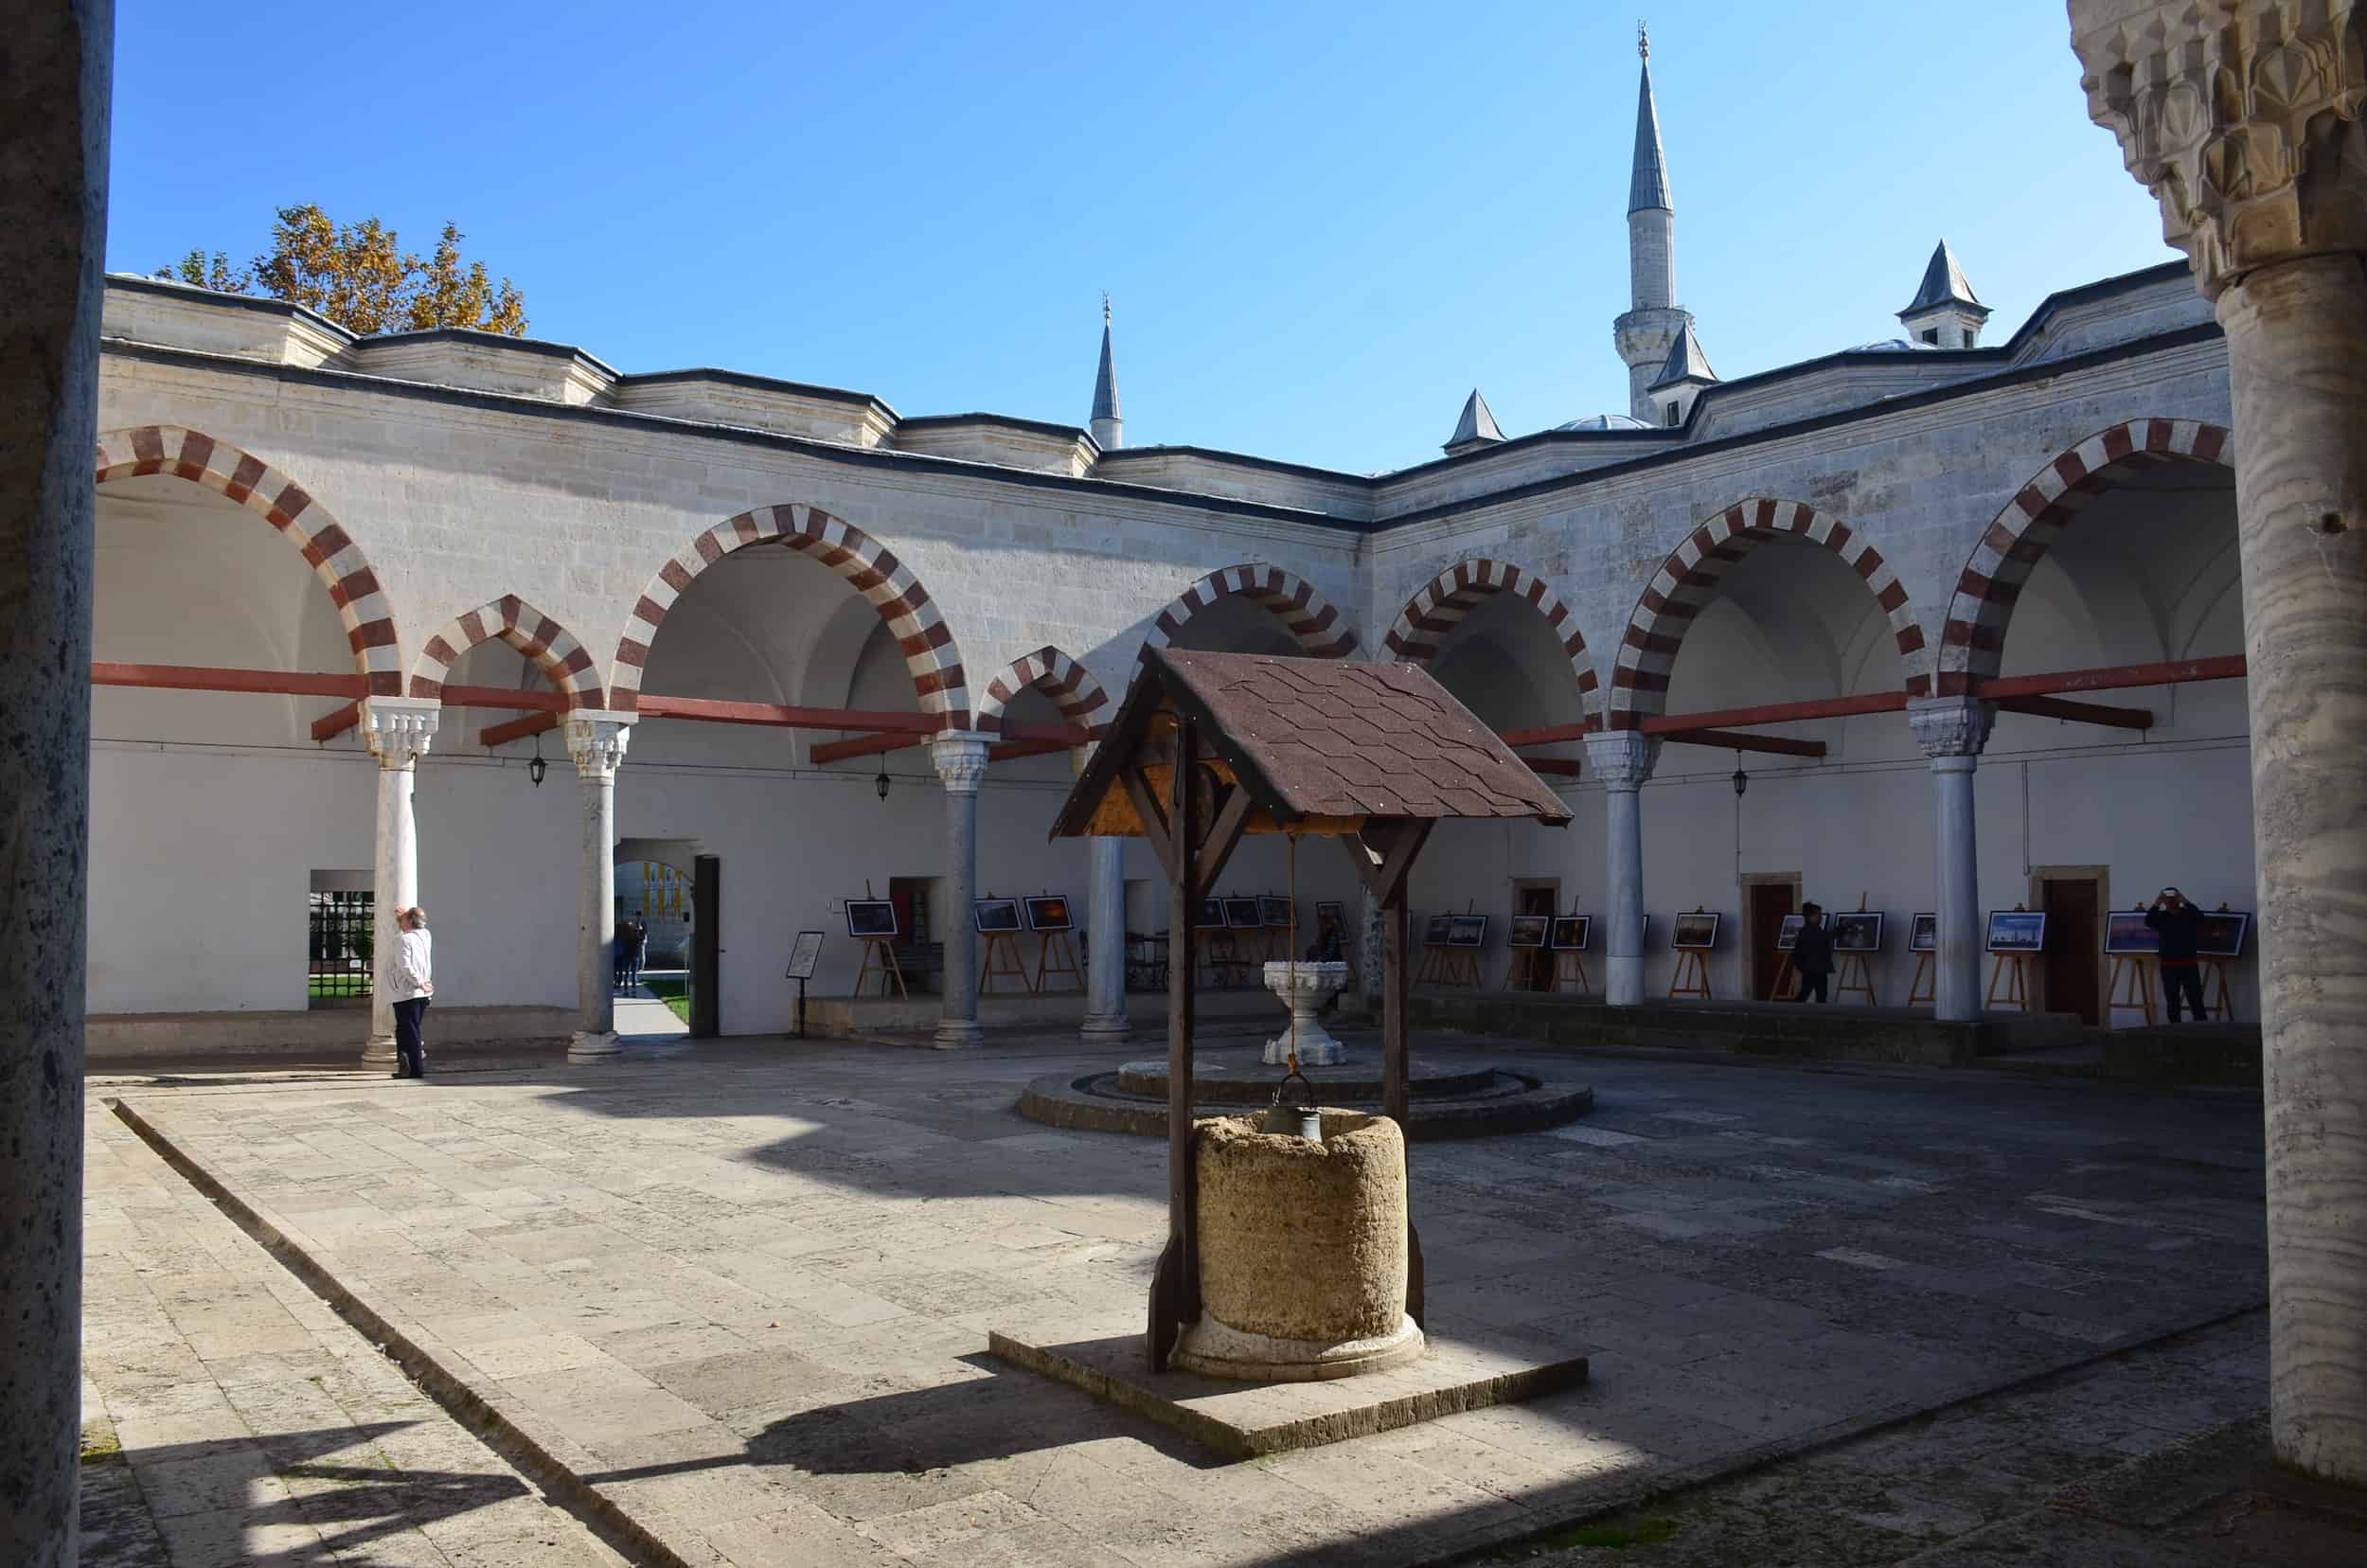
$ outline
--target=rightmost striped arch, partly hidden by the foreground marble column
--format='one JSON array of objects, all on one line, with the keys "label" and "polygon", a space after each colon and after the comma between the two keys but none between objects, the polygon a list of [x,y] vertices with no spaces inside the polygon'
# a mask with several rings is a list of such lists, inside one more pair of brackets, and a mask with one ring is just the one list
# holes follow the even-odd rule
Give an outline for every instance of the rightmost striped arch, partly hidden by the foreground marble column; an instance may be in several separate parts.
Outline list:
[{"label": "rightmost striped arch, partly hidden by the foreground marble column", "polygon": [[1965,696],[1998,673],[2005,623],[2031,568],[2081,507],[2137,469],[2171,462],[2234,467],[2225,426],[2201,419],[2128,419],[2052,457],[2005,502],[1972,547],[1939,635],[1939,694]]}]

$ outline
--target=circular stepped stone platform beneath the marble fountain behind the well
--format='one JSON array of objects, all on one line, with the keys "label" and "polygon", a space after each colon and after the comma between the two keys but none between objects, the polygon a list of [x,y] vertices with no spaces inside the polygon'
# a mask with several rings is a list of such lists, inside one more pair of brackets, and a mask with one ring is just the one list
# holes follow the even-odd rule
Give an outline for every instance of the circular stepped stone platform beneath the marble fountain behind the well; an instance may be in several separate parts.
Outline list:
[{"label": "circular stepped stone platform beneath the marble fountain behind the well", "polygon": [[[1560,1127],[1595,1106],[1586,1085],[1546,1082],[1494,1066],[1442,1066],[1411,1061],[1411,1139],[1494,1137]],[[1273,1101],[1283,1068],[1259,1059],[1259,1049],[1200,1052],[1193,1063],[1195,1116],[1240,1116]],[[1380,1108],[1380,1063],[1373,1049],[1354,1049],[1349,1061],[1307,1068],[1316,1104],[1342,1111]],[[1117,1071],[1051,1073],[1020,1094],[1020,1116],[1084,1132],[1139,1132],[1167,1137],[1167,1063],[1129,1061]]]}]

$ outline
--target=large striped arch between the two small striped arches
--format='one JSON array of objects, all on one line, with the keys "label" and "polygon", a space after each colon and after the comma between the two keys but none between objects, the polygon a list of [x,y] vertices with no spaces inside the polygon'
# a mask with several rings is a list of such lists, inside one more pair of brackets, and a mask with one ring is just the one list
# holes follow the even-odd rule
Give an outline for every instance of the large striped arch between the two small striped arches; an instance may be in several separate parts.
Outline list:
[{"label": "large striped arch between the two small striped arches", "polygon": [[911,576],[904,561],[895,559],[876,538],[831,516],[821,507],[783,505],[741,512],[698,533],[675,554],[641,590],[625,623],[625,637],[615,644],[615,661],[608,666],[608,701],[620,713],[637,713],[641,701],[641,670],[649,649],[658,637],[665,611],[675,606],[682,590],[715,561],[748,545],[776,542],[798,554],[814,557],[859,592],[904,654],[911,670],[921,711],[937,715],[944,730],[966,730],[970,722],[970,694],[963,687],[961,651],[954,632],[944,625],[944,613],[935,599]]}]

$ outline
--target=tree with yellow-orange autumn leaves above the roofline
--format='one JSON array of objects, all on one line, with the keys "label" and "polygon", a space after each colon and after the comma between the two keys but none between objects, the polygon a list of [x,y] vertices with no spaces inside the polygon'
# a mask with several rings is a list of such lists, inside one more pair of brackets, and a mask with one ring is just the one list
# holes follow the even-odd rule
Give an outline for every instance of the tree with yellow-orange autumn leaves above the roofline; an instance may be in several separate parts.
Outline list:
[{"label": "tree with yellow-orange autumn leaves above the roofline", "polygon": [[230,256],[189,251],[156,277],[173,277],[222,294],[267,294],[362,336],[473,327],[525,336],[525,296],[507,277],[495,284],[483,261],[462,263],[462,232],[447,223],[436,251],[421,261],[402,249],[395,230],[376,218],[338,225],[320,206],[282,206],[272,249],[253,268]]}]

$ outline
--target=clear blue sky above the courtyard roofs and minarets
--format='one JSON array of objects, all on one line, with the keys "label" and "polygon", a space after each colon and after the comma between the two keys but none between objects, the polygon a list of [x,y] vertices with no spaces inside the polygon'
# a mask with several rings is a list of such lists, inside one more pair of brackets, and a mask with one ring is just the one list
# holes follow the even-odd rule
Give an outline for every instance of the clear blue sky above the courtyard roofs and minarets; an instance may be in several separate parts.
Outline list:
[{"label": "clear blue sky above the courtyard roofs and minarets", "polygon": [[[1939,237],[1995,308],[2173,261],[2062,0],[1662,5],[1678,301],[1718,374],[1896,334]],[[405,7],[121,0],[109,265],[270,211],[450,218],[533,336],[904,415],[1373,471],[1479,386],[1624,410],[1636,14],[1605,5]]]}]

